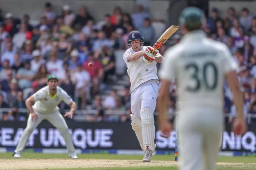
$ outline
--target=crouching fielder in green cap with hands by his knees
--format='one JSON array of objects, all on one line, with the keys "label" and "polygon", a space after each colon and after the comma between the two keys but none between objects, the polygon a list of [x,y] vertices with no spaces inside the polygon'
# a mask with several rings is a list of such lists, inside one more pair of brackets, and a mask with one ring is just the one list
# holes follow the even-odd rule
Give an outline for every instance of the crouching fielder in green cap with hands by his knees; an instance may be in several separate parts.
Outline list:
[{"label": "crouching fielder in green cap with hands by his knees", "polygon": [[[23,131],[18,146],[14,151],[14,157],[21,157],[21,152],[24,150],[29,136],[38,124],[45,119],[53,124],[63,135],[69,157],[77,158],[68,125],[57,107],[61,101],[64,101],[70,107],[70,111],[65,113],[64,117],[72,118],[76,109],[76,103],[68,96],[67,92],[57,86],[58,81],[59,79],[56,76],[50,75],[47,82],[48,86],[27,98],[26,106],[30,114],[27,120],[27,127]],[[35,104],[33,105],[33,103]]]}]

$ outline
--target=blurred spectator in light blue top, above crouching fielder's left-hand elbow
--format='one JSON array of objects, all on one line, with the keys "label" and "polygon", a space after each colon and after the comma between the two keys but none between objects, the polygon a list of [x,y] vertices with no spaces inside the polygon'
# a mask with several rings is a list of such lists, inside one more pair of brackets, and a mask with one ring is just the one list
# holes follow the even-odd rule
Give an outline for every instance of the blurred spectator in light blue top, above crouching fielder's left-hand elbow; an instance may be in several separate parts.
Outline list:
[{"label": "blurred spectator in light blue top, above crouching fielder's left-hand elbow", "polygon": [[20,68],[17,72],[16,78],[21,89],[29,88],[35,72],[30,68],[30,61],[24,62],[24,68]]}]

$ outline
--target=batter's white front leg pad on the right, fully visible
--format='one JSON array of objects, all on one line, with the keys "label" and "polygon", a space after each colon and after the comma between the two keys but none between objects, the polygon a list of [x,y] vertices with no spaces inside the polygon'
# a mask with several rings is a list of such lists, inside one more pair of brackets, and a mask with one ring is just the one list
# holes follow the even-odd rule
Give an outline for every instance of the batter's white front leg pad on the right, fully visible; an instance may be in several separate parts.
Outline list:
[{"label": "batter's white front leg pad on the right, fully visible", "polygon": [[155,121],[153,112],[149,108],[145,108],[140,112],[141,124],[142,124],[142,137],[144,151],[151,150],[154,152],[155,145]]}]

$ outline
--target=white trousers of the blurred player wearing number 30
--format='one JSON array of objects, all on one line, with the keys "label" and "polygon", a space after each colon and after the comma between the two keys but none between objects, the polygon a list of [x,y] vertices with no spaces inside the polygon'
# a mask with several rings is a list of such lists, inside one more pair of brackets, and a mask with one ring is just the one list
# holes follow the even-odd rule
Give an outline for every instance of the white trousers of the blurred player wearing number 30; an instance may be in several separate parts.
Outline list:
[{"label": "white trousers of the blurred player wearing number 30", "polygon": [[223,111],[183,109],[177,115],[180,170],[216,170]]}]

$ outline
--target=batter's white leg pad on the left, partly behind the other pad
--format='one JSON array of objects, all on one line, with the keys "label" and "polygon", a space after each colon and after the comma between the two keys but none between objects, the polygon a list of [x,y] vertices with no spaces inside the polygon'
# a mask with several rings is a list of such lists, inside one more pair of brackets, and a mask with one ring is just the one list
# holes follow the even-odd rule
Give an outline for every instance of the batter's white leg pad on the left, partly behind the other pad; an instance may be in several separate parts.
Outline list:
[{"label": "batter's white leg pad on the left, partly behind the other pad", "polygon": [[132,129],[135,132],[139,143],[140,143],[140,147],[143,150],[143,138],[142,138],[142,127],[141,127],[141,121],[139,119],[139,117],[134,116],[134,115],[130,115],[131,119],[132,119]]}]

